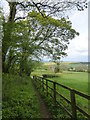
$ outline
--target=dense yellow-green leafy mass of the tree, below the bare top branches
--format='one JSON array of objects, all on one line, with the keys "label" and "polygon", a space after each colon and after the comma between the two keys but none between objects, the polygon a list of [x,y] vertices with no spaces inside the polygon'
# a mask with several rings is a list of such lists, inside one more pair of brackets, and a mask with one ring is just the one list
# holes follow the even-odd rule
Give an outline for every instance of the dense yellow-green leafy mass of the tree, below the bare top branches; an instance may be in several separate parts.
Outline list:
[{"label": "dense yellow-green leafy mass of the tree, below the bare top branches", "polygon": [[9,72],[18,64],[20,75],[30,75],[33,60],[43,56],[57,60],[65,56],[69,41],[78,35],[65,18],[43,18],[35,11],[26,20],[4,22],[3,29],[3,69]]}]

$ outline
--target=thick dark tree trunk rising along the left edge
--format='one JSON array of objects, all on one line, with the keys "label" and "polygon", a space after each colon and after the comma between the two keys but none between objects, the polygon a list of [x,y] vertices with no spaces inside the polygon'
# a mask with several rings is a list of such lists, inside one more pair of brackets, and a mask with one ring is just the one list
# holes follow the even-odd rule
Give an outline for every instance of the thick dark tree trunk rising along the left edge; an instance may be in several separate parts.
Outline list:
[{"label": "thick dark tree trunk rising along the left edge", "polygon": [[8,49],[10,47],[11,42],[11,32],[12,32],[12,23],[14,22],[15,14],[16,14],[16,3],[11,2],[9,3],[10,6],[10,15],[8,22],[4,24],[3,31],[4,31],[4,37],[2,40],[2,72],[7,73],[8,69],[6,67],[6,54],[8,52]]}]

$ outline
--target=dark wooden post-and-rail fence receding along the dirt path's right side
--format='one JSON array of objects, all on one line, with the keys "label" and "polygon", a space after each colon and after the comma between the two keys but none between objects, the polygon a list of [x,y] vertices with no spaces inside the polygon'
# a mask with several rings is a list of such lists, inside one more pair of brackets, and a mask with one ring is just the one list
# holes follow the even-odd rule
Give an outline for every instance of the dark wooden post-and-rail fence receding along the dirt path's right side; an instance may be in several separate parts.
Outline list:
[{"label": "dark wooden post-and-rail fence receding along the dirt path's right side", "polygon": [[[48,80],[48,79],[43,78],[43,77],[33,76],[33,80],[39,82],[43,91],[44,90],[46,91],[46,95],[47,96],[50,95],[53,98],[55,104],[58,104],[59,106],[61,106],[68,113],[68,115],[72,118],[72,120],[77,120],[77,110],[79,112],[81,112],[84,116],[86,116],[88,120],[90,120],[90,114],[76,105],[76,97],[75,97],[75,95],[79,95],[79,96],[81,96],[89,101],[90,100],[89,95],[86,95],[82,92],[71,89],[67,86],[59,84],[57,82],[53,82],[53,81]],[[53,84],[53,88],[49,86],[49,83]],[[67,99],[66,97],[64,97],[62,94],[60,94],[57,91],[56,86],[59,86],[59,87],[62,87],[64,89],[68,90],[70,92],[70,100]],[[51,95],[51,93],[49,92],[48,89],[51,89],[53,91],[53,95]],[[63,104],[61,104],[60,102],[57,101],[57,95],[60,96],[61,98],[63,98],[67,103],[69,103],[71,105],[71,112],[65,106],[63,106]]]}]

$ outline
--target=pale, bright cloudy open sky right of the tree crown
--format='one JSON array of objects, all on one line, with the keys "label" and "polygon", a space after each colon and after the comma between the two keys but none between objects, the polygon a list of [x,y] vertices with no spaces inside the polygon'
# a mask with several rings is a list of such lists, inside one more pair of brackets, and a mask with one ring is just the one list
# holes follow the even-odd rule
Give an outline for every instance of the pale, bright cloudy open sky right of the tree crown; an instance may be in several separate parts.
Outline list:
[{"label": "pale, bright cloudy open sky right of the tree crown", "polygon": [[[0,0],[4,1],[5,0]],[[6,10],[7,9],[7,10]],[[8,4],[4,4],[4,11],[8,14]],[[70,41],[68,50],[66,50],[68,56],[62,58],[62,61],[73,61],[73,62],[87,62],[88,61],[88,9],[84,11],[70,12],[69,19],[72,22],[72,27],[80,33],[79,36],[75,37]],[[48,58],[44,58],[48,61]]]}]

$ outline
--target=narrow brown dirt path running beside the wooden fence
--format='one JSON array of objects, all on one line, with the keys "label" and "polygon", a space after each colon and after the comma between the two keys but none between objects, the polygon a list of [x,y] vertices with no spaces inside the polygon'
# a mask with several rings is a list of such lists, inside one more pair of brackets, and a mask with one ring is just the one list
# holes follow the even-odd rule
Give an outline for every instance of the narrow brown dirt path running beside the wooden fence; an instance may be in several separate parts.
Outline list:
[{"label": "narrow brown dirt path running beside the wooden fence", "polygon": [[46,106],[45,102],[43,101],[43,99],[42,99],[39,91],[37,90],[36,86],[34,85],[34,83],[33,83],[33,86],[34,86],[36,95],[37,95],[37,97],[39,99],[39,106],[40,106],[41,118],[42,119],[43,118],[49,118],[49,120],[52,120],[52,115],[50,114],[50,112],[48,110],[48,107]]}]

